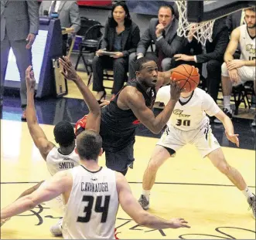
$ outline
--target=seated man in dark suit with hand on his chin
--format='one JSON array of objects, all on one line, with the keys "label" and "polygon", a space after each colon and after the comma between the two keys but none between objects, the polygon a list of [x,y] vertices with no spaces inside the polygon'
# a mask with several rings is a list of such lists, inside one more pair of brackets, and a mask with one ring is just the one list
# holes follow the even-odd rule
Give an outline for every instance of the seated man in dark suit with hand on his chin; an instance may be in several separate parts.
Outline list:
[{"label": "seated man in dark suit with hand on his chin", "polygon": [[[135,78],[135,61],[143,56],[158,63],[159,69],[167,71],[172,68],[172,56],[182,49],[183,38],[177,35],[179,27],[171,5],[162,5],[159,8],[158,19],[151,19],[148,29],[138,42],[137,52],[129,57],[129,78]],[[155,42],[155,52],[146,52],[148,46]]]}]

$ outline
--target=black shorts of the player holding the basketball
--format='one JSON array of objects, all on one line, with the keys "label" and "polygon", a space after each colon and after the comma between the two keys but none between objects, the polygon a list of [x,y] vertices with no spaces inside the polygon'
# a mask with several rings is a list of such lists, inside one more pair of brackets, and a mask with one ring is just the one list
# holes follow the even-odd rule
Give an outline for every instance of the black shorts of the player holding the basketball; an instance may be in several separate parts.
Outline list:
[{"label": "black shorts of the player holding the basketball", "polygon": [[121,150],[104,149],[106,156],[106,166],[114,171],[124,172],[135,161],[133,157],[134,142],[128,144]]}]

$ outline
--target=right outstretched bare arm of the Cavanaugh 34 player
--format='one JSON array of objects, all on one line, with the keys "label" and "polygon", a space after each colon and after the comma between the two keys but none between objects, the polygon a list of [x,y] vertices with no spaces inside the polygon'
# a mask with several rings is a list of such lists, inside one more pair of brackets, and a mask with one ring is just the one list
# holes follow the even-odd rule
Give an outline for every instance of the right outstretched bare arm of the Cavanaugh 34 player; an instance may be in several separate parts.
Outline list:
[{"label": "right outstretched bare arm of the Cavanaugh 34 player", "polygon": [[118,198],[121,207],[124,211],[138,223],[148,228],[162,229],[162,228],[190,228],[183,218],[172,218],[170,221],[156,217],[144,211],[139,205],[138,201],[131,193],[131,188],[128,185],[125,177],[116,173]]}]

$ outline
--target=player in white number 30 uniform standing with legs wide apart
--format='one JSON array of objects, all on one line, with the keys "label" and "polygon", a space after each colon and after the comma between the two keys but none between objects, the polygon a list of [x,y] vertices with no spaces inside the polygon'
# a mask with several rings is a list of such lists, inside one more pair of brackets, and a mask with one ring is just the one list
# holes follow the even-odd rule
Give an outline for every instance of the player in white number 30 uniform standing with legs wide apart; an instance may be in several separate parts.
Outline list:
[{"label": "player in white number 30 uniform standing with legs wide apart", "polygon": [[[157,93],[156,101],[166,103],[169,99],[169,86],[164,86]],[[181,147],[186,144],[193,144],[200,152],[201,157],[209,157],[213,165],[244,193],[255,218],[255,196],[247,188],[240,172],[227,163],[220,144],[213,136],[210,120],[206,114],[210,117],[217,117],[224,124],[227,139],[239,147],[238,134],[234,134],[234,127],[230,118],[220,110],[220,107],[209,94],[199,88],[193,92],[181,93],[167,123],[166,130],[156,144],[145,170],[139,203],[142,208],[148,209],[150,190],[155,183],[155,176],[159,167],[169,157],[175,157],[176,151]]]}]

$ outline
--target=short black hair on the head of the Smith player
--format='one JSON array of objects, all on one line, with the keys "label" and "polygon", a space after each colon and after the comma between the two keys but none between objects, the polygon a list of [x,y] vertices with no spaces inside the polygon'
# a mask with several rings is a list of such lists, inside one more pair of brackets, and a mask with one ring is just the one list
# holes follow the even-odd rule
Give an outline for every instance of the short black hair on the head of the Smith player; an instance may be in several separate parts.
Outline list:
[{"label": "short black hair on the head of the Smith player", "polygon": [[73,126],[67,121],[61,121],[57,123],[53,129],[53,134],[57,144],[60,146],[68,147],[73,144],[73,140],[76,139]]}]

